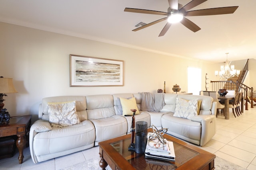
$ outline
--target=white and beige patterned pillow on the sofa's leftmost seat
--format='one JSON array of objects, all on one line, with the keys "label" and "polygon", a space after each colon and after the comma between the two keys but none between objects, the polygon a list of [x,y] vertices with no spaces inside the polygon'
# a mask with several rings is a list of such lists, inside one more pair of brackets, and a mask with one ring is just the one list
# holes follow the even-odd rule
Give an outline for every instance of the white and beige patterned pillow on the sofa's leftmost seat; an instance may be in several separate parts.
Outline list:
[{"label": "white and beige patterned pillow on the sofa's leftmost seat", "polygon": [[52,127],[64,127],[80,123],[76,114],[76,101],[48,102],[49,121]]}]

